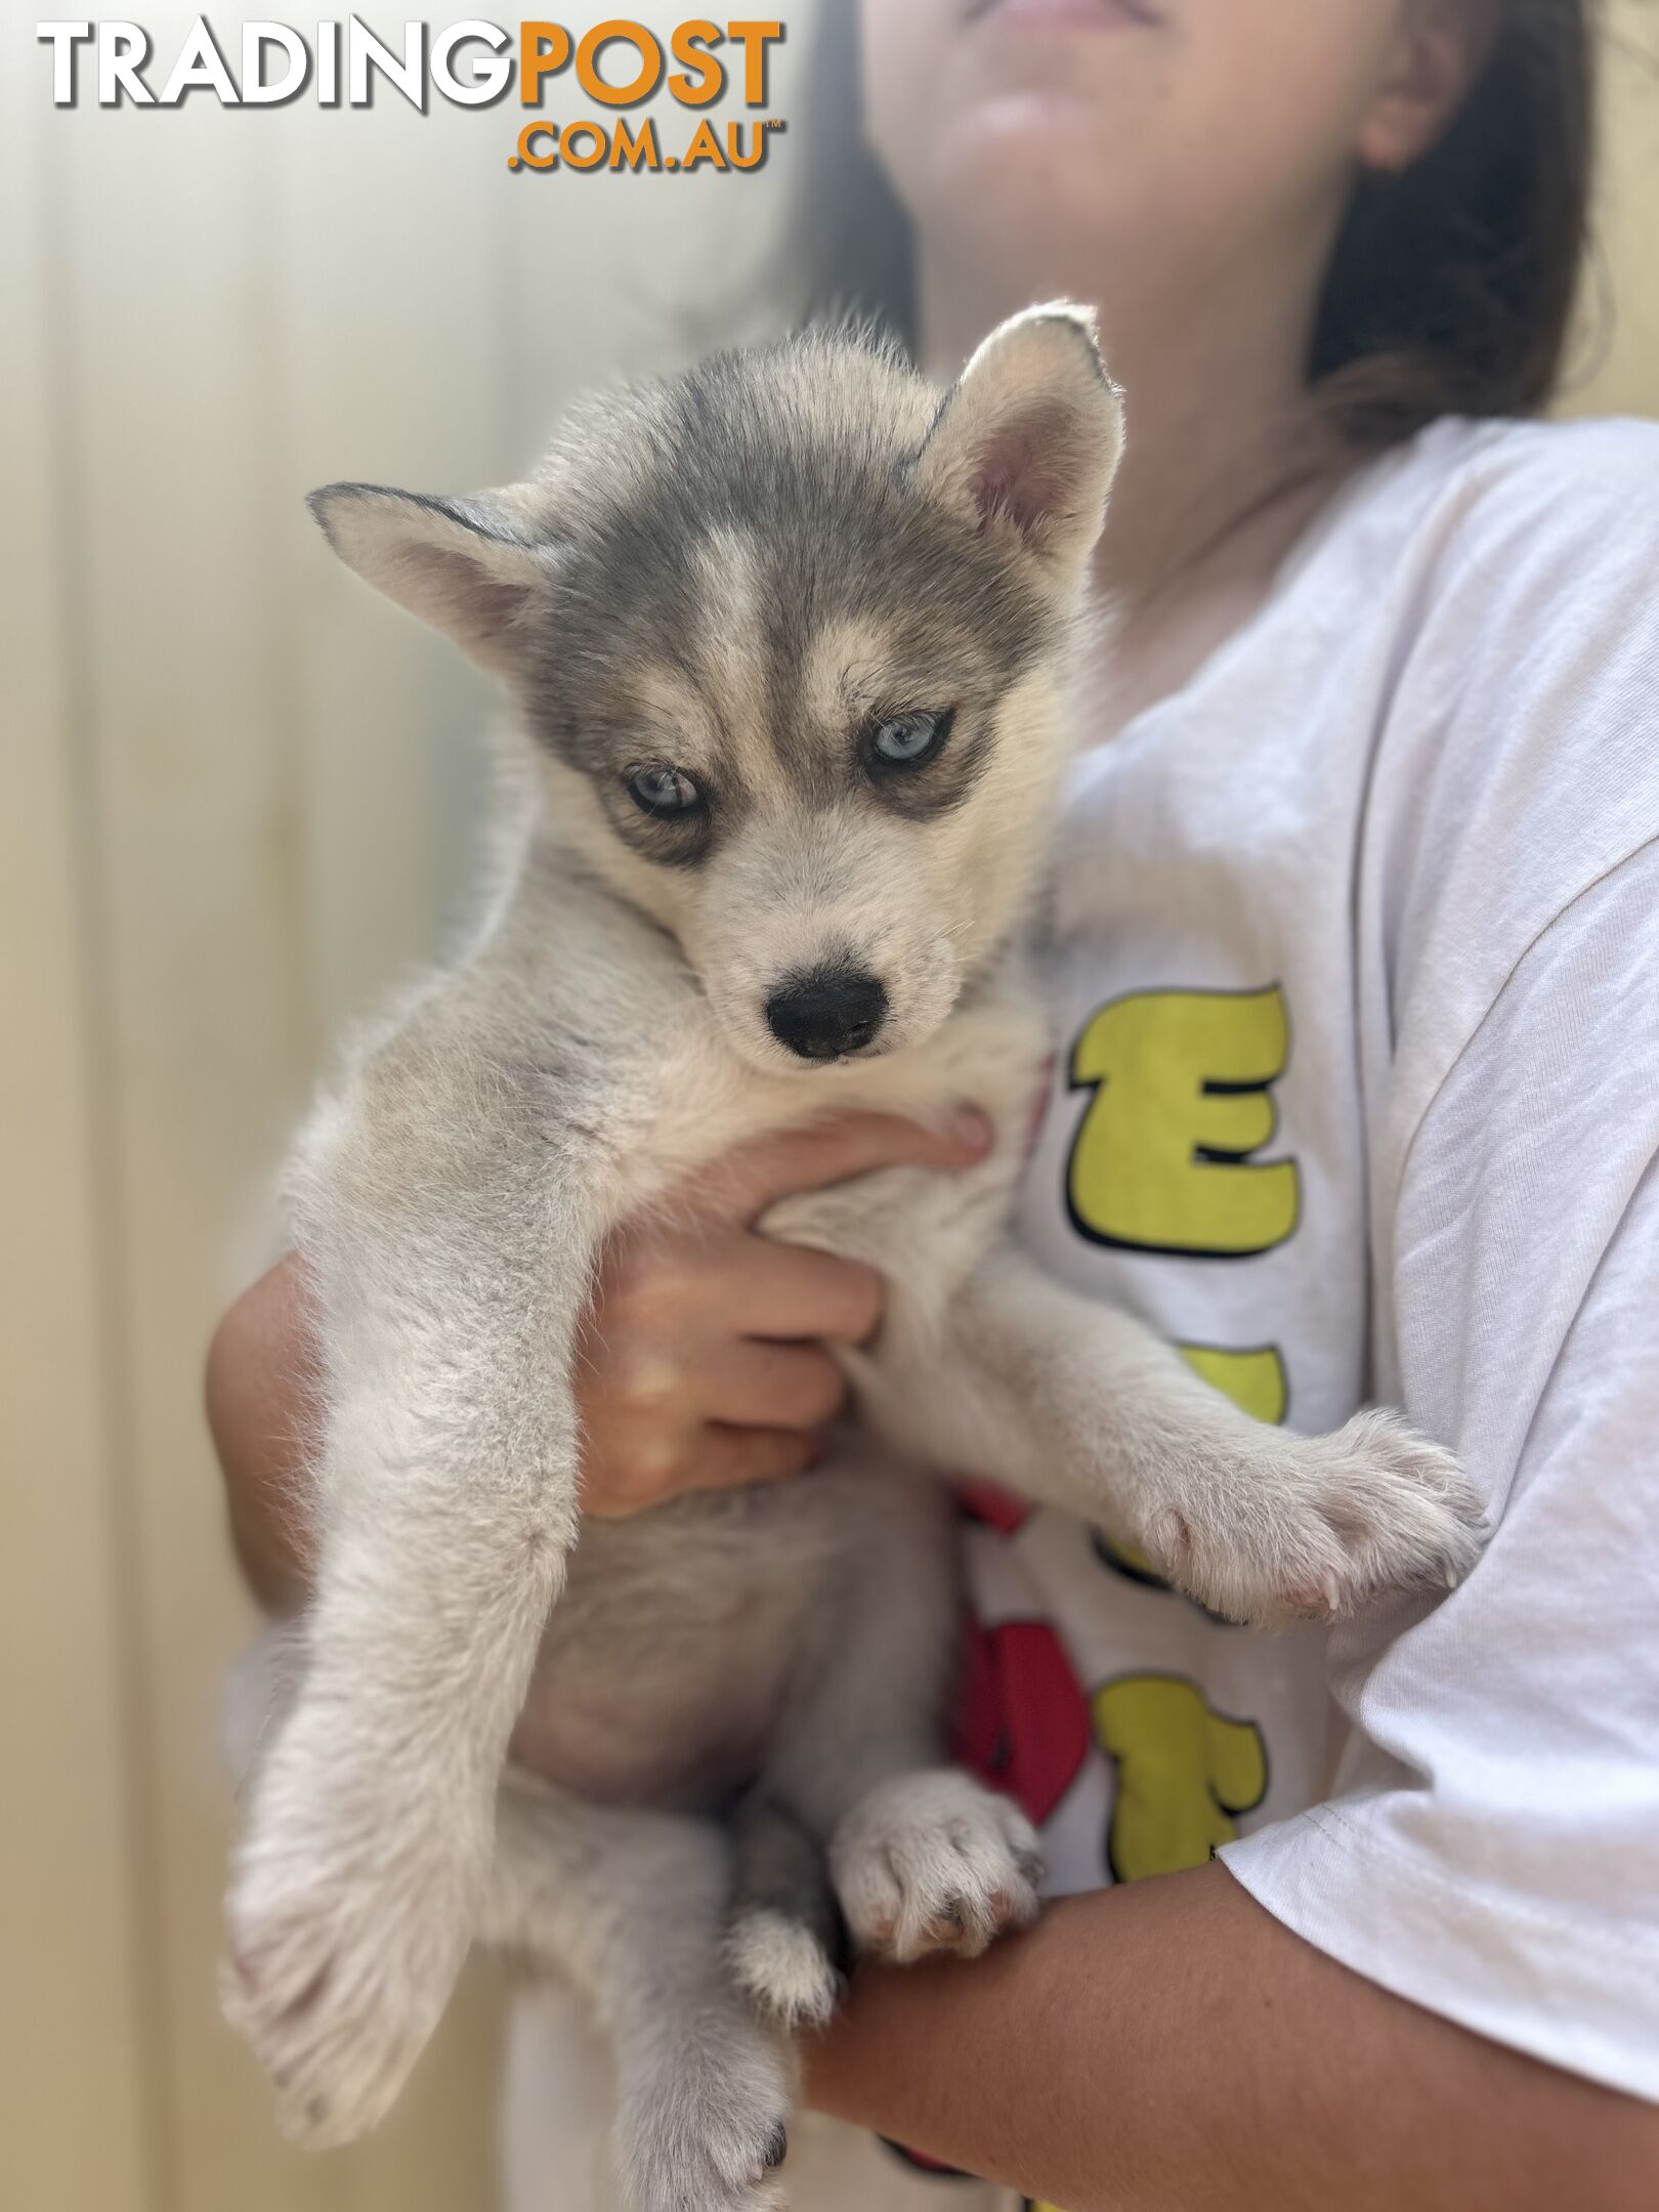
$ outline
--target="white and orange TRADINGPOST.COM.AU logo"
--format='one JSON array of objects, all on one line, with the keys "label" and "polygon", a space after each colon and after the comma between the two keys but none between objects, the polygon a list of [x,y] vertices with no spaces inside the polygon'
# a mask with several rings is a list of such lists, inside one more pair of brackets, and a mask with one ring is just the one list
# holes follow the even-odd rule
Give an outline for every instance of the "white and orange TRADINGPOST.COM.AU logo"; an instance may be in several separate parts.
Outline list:
[{"label": "white and orange TRADINGPOST.COM.AU logo", "polygon": [[[226,51],[206,15],[197,15],[177,51],[157,53],[137,22],[38,22],[51,49],[51,97],[60,108],[82,100],[102,108],[177,108],[192,95],[226,108],[272,108],[312,97],[323,108],[367,108],[389,86],[427,113],[427,100],[489,108],[518,91],[518,104],[542,108],[549,86],[602,108],[580,122],[538,113],[518,133],[509,168],[750,170],[765,161],[776,117],[750,115],[719,131],[699,108],[741,84],[743,106],[768,104],[772,46],[781,22],[695,18],[657,33],[624,15],[591,29],[560,22],[451,22],[434,29],[407,22],[394,38],[376,35],[356,15],[299,31],[285,22],[246,22],[241,44]],[[604,64],[604,69],[602,69]],[[684,113],[686,131],[664,144],[653,102]]]}]

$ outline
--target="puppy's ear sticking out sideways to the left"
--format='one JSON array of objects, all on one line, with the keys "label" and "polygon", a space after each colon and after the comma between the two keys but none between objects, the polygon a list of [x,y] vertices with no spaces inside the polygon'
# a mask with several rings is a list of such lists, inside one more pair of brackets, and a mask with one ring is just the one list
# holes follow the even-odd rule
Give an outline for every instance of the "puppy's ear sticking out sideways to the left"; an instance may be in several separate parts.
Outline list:
[{"label": "puppy's ear sticking out sideways to the left", "polygon": [[453,637],[493,675],[520,666],[551,604],[557,546],[522,535],[500,495],[431,500],[387,484],[325,484],[307,507],[323,535],[387,599]]}]

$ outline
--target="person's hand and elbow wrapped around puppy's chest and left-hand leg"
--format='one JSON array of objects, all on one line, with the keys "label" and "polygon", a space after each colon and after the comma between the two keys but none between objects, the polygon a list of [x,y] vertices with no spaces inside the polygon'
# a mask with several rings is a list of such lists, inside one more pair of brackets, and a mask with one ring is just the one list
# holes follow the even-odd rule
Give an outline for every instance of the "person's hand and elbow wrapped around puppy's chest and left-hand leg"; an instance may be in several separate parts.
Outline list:
[{"label": "person's hand and elbow wrapped around puppy's chest and left-hand leg", "polygon": [[[823,1345],[863,1343],[883,1285],[856,1261],[772,1243],[754,1223],[799,1190],[878,1168],[967,1168],[989,1146],[973,1110],[947,1133],[843,1115],[732,1152],[672,1225],[624,1223],[577,1345],[584,1511],[619,1517],[686,1491],[801,1473],[845,1396]],[[230,1307],[208,1354],[230,1531],[272,1610],[296,1606],[310,1579],[301,1493],[316,1380],[290,1256]]]}]

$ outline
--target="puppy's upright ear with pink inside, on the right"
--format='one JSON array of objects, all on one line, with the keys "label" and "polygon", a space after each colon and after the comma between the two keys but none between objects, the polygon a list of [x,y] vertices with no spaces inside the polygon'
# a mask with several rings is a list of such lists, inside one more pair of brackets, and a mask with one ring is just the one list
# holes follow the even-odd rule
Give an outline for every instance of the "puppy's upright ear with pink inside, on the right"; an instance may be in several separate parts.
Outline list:
[{"label": "puppy's upright ear with pink inside, on the right", "polygon": [[1086,307],[1031,307],[993,330],[945,398],[911,482],[1060,575],[1106,520],[1124,451],[1124,396]]}]

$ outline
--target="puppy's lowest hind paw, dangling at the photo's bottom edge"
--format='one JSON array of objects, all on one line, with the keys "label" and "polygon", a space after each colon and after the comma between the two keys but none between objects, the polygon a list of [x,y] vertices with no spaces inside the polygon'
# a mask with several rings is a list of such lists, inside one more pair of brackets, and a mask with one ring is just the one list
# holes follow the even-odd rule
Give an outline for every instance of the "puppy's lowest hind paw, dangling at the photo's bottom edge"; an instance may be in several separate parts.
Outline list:
[{"label": "puppy's lowest hind paw, dangling at the photo's bottom edge", "polygon": [[781,2212],[790,2070],[730,1997],[617,2053],[617,2168],[630,2212]]}]

